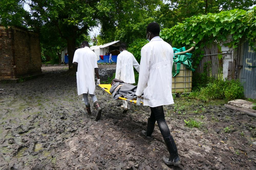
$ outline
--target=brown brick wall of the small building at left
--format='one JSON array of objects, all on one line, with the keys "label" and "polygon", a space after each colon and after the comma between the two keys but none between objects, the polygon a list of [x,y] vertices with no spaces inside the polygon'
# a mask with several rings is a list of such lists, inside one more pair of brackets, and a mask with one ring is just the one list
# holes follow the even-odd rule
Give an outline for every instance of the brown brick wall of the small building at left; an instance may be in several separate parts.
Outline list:
[{"label": "brown brick wall of the small building at left", "polygon": [[0,26],[0,79],[41,74],[39,35],[24,28]]}]

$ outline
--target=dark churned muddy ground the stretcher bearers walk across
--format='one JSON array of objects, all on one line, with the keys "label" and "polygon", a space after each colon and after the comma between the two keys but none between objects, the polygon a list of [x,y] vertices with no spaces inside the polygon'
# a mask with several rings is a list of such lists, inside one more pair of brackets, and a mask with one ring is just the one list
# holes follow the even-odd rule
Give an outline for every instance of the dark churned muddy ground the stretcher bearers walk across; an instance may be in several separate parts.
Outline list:
[{"label": "dark churned muddy ground the stretcher bearers walk across", "polygon": [[[115,65],[99,70],[104,81]],[[164,106],[181,159],[178,167],[166,166],[157,125],[153,140],[141,135],[150,108],[133,105],[122,113],[121,101],[97,87],[103,115],[96,122],[92,101],[89,116],[76,76],[64,73],[67,67],[42,71],[45,76],[37,79],[0,84],[0,169],[256,169],[256,119],[226,109],[223,100],[202,103],[183,96]],[[189,118],[203,127],[185,126]]]}]

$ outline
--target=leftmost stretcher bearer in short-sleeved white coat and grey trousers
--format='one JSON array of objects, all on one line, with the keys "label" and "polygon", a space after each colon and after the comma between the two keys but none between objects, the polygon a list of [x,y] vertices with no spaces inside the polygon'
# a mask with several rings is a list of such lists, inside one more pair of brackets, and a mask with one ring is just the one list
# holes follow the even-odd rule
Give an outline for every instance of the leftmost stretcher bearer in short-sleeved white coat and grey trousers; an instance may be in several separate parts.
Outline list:
[{"label": "leftmost stretcher bearer in short-sleeved white coat and grey trousers", "polygon": [[99,69],[97,65],[97,56],[89,48],[87,41],[82,42],[82,47],[75,51],[73,63],[78,65],[77,67],[77,93],[78,95],[83,94],[83,100],[86,105],[88,115],[91,115],[91,107],[88,100],[88,93],[93,100],[93,105],[97,110],[96,121],[101,117],[100,105],[95,96],[95,82],[94,74],[97,76],[97,85],[100,84]]}]

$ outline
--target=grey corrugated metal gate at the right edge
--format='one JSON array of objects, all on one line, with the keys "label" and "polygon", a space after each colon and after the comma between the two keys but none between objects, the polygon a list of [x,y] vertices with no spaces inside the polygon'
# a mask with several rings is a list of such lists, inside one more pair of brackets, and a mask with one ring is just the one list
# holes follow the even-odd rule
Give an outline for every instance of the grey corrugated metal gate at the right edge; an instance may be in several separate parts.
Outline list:
[{"label": "grey corrugated metal gate at the right edge", "polygon": [[[254,44],[255,46],[255,44]],[[241,44],[239,79],[244,88],[244,96],[256,99],[256,52],[248,41]]]}]

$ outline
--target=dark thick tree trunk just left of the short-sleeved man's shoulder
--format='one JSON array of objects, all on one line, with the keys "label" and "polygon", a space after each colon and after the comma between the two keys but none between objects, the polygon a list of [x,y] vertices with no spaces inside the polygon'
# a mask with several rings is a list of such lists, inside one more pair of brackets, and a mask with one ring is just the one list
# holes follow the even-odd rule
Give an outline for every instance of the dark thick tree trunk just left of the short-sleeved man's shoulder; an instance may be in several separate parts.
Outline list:
[{"label": "dark thick tree trunk just left of the short-sleeved man's shoulder", "polygon": [[73,65],[74,53],[76,50],[76,39],[75,38],[67,38],[67,46],[68,46],[68,70],[76,71],[76,67]]}]

